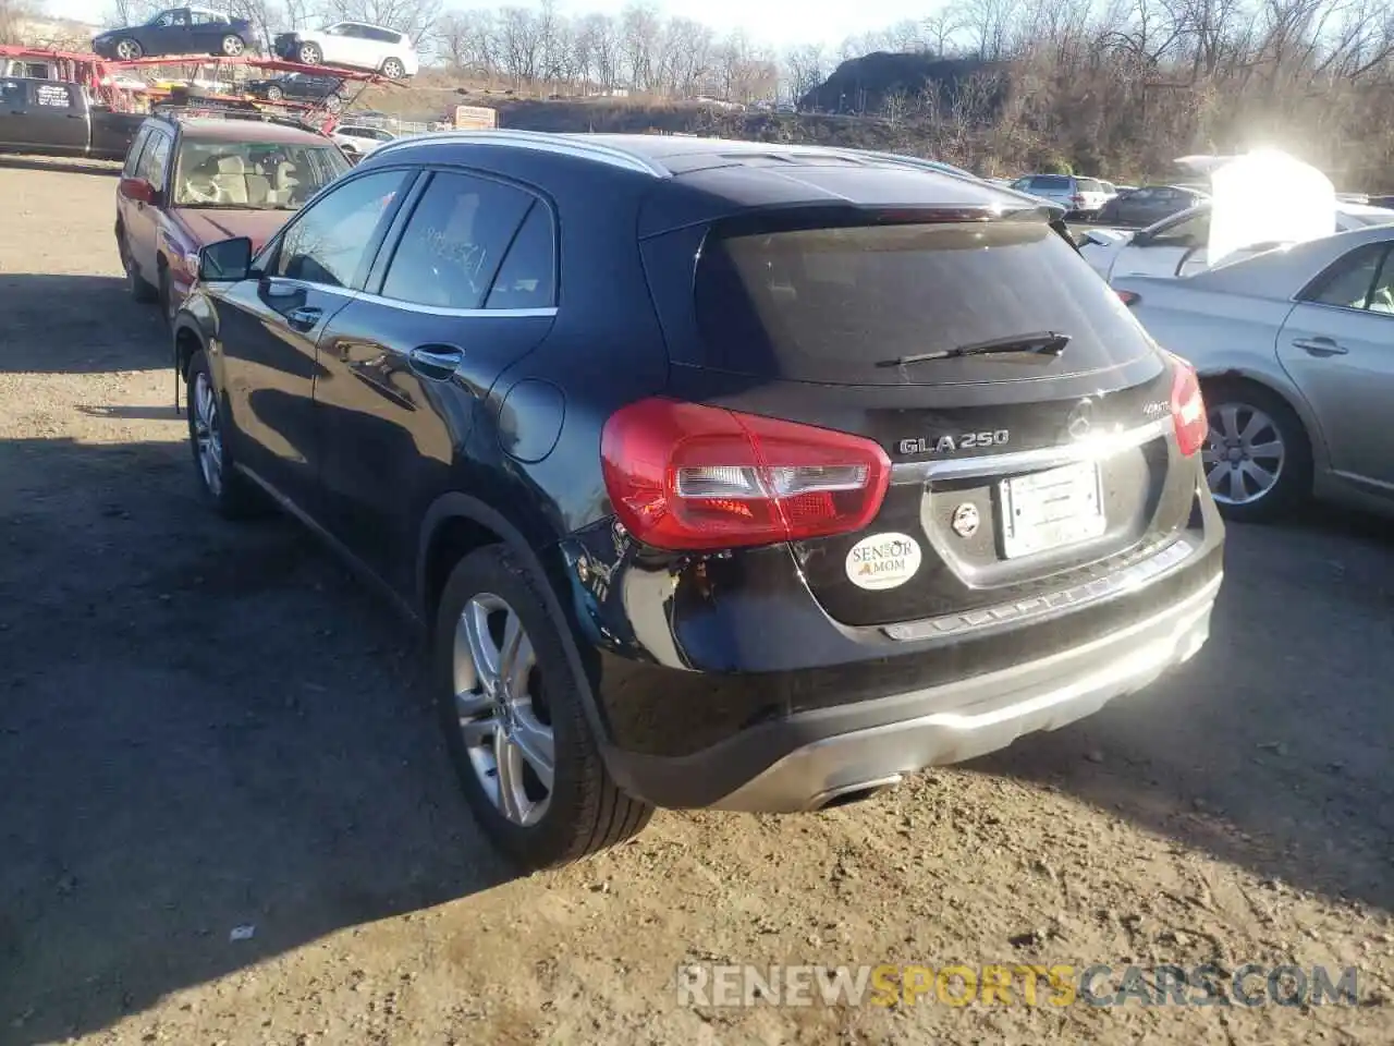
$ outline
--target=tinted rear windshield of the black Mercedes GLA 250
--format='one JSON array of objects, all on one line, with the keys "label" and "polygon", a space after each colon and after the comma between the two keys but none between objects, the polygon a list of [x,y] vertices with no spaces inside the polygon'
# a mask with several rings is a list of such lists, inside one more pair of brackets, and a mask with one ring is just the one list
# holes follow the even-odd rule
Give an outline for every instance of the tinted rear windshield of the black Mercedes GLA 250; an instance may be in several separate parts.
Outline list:
[{"label": "tinted rear windshield of the black Mercedes GLA 250", "polygon": [[[1012,381],[1149,351],[1093,269],[1037,220],[708,234],[696,278],[708,367],[853,385]],[[1059,358],[903,356],[1054,331]]]}]

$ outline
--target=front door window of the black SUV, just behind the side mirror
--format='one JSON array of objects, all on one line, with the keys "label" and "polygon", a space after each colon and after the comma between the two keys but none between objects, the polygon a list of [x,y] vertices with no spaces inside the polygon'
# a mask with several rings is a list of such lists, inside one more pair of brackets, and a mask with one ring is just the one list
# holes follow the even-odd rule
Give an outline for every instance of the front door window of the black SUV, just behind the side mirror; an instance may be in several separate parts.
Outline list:
[{"label": "front door window of the black SUV, just behind the side mirror", "polygon": [[369,248],[406,180],[400,170],[353,179],[286,230],[275,275],[329,287],[358,286]]}]

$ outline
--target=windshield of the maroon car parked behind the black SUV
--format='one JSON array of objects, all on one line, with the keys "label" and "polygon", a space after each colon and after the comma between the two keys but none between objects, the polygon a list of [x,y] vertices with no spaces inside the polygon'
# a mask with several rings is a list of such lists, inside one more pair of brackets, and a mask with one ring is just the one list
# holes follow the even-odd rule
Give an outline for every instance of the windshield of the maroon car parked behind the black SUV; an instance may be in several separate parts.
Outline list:
[{"label": "windshield of the maroon car parked behind the black SUV", "polygon": [[298,211],[346,170],[347,162],[329,146],[184,139],[174,204]]}]

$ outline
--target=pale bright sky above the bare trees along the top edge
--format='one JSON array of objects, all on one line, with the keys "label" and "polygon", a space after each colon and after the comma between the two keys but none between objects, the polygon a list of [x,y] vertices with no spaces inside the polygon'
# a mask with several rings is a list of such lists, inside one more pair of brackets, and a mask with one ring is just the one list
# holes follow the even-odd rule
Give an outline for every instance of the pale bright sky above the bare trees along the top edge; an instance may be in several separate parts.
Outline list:
[{"label": "pale bright sky above the bare trees along the top edge", "polygon": [[[170,0],[174,6],[176,0]],[[530,7],[528,0],[513,0]],[[848,36],[894,25],[905,18],[923,18],[942,0],[881,0],[868,18],[859,4],[846,0],[657,0],[666,15],[691,18],[718,32],[742,28],[761,43],[783,49],[818,42],[836,46]],[[503,6],[502,0],[447,0],[446,7],[471,8]],[[559,0],[563,14],[605,11],[619,14],[626,0]],[[110,0],[47,0],[50,15],[102,22],[112,8]]]}]

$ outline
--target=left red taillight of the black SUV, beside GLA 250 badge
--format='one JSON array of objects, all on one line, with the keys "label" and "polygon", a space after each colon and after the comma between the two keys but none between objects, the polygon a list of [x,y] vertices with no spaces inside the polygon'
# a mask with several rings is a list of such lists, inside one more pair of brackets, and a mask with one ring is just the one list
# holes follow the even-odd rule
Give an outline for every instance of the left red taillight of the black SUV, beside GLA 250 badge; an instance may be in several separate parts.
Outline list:
[{"label": "left red taillight of the black SUV, beside GLA 250 badge", "polygon": [[601,464],[619,522],[655,548],[861,530],[891,480],[891,460],[870,439],[669,399],[616,411]]}]

